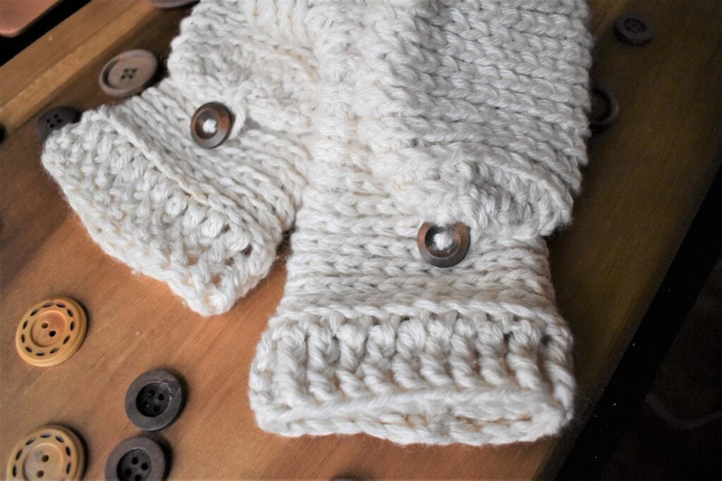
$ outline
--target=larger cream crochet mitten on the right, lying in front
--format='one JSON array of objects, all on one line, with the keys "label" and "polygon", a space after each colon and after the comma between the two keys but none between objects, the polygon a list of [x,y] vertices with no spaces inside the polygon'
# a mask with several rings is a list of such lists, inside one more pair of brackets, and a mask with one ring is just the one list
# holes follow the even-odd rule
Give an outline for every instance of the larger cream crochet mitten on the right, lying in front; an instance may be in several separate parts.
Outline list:
[{"label": "larger cream crochet mitten on the right, lying in front", "polygon": [[[572,337],[542,236],[569,221],[586,162],[586,2],[320,8],[318,138],[251,367],[258,425],[401,444],[556,433]],[[457,251],[450,268],[422,257]]]}]

